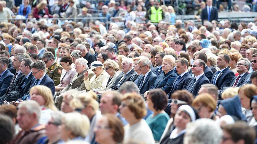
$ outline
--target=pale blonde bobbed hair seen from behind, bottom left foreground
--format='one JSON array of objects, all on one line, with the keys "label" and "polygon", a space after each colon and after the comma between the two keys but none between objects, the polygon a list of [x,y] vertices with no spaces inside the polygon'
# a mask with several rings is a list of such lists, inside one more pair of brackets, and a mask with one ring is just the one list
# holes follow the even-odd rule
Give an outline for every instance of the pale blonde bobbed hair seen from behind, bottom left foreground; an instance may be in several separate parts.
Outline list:
[{"label": "pale blonde bobbed hair seen from behind, bottom left foreground", "polygon": [[85,138],[90,129],[90,121],[87,116],[78,112],[64,114],[62,123],[65,125],[65,130],[70,130],[75,137]]}]

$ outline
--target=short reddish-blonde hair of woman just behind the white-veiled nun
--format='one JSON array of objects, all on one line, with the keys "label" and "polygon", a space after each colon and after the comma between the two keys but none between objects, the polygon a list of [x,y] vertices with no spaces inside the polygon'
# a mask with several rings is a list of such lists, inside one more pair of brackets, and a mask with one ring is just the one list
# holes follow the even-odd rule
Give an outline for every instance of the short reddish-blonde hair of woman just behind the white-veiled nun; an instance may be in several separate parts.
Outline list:
[{"label": "short reddish-blonde hair of woman just behind the white-veiled nun", "polygon": [[197,97],[192,102],[192,106],[194,107],[200,105],[203,105],[205,107],[209,106],[209,112],[213,112],[216,109],[217,103],[210,94],[205,93],[197,95]]}]

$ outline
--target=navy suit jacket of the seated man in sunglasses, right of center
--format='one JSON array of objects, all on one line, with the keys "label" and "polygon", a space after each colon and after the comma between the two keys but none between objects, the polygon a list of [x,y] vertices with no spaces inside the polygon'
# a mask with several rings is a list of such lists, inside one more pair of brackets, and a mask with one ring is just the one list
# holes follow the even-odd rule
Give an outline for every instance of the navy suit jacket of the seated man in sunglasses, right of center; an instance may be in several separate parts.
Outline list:
[{"label": "navy suit jacket of the seated man in sunglasses, right of center", "polygon": [[187,84],[187,87],[186,87],[186,90],[190,93],[192,93],[194,95],[194,97],[196,95],[198,95],[198,91],[200,90],[201,86],[203,84],[206,84],[206,83],[210,83],[209,79],[205,76],[205,74],[203,74],[202,76],[200,76],[200,78],[196,81],[195,85],[191,88],[191,84],[193,83],[194,81],[194,78],[192,78],[188,84]]}]

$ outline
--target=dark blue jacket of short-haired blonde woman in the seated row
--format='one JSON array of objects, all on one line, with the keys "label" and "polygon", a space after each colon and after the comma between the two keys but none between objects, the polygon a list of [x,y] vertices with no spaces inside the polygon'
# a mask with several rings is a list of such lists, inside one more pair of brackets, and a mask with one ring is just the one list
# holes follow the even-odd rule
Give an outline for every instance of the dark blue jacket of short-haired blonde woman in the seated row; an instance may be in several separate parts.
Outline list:
[{"label": "dark blue jacket of short-haired blonde woman in the seated row", "polygon": [[175,78],[177,78],[177,74],[175,74],[174,70],[169,71],[167,74],[161,73],[155,83],[154,86],[151,86],[149,90],[160,88],[168,94],[171,91],[171,87]]}]

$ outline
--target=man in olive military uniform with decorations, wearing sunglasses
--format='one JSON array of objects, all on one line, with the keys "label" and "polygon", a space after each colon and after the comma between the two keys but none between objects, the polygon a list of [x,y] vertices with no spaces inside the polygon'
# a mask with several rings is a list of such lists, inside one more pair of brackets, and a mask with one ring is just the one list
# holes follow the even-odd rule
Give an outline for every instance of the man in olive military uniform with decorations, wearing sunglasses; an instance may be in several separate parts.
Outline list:
[{"label": "man in olive military uniform with decorations, wearing sunglasses", "polygon": [[44,53],[42,57],[46,65],[46,74],[53,79],[54,85],[60,84],[62,67],[55,61],[55,57],[51,52]]}]

